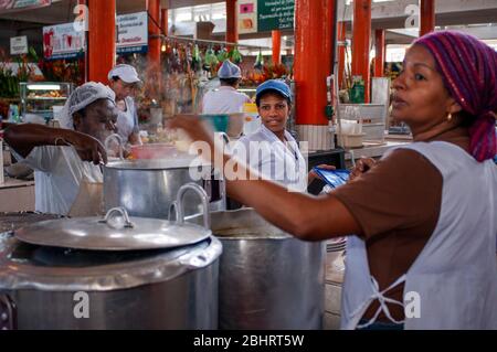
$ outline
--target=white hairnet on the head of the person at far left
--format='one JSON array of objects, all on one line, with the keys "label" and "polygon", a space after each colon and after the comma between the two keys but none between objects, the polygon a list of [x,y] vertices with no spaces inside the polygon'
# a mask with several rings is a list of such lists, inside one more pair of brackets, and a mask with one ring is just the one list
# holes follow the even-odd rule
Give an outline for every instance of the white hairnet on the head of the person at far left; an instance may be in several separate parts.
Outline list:
[{"label": "white hairnet on the head of the person at far left", "polygon": [[98,99],[109,99],[115,103],[116,95],[113,89],[98,82],[88,82],[74,89],[59,115],[61,127],[74,129],[73,114]]}]

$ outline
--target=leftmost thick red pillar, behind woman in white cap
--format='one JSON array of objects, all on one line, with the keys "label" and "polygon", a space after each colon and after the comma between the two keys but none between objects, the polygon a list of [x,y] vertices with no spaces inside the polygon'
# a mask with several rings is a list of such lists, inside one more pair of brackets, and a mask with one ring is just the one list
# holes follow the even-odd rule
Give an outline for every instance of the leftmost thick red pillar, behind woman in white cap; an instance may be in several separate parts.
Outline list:
[{"label": "leftmost thick red pillar, behind woman in white cap", "polygon": [[116,63],[116,1],[88,0],[87,4],[88,79],[107,83]]}]

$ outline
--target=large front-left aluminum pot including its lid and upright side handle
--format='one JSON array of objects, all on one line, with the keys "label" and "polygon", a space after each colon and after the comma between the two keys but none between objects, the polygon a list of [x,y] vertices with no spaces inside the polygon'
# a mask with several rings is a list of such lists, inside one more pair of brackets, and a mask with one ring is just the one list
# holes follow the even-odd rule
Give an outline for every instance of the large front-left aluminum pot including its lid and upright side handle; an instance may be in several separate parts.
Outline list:
[{"label": "large front-left aluminum pot including its lid and upright side handle", "polygon": [[[184,224],[188,190],[202,198],[204,227]],[[119,225],[113,210],[104,221],[49,220],[0,234],[0,329],[215,329],[222,246],[207,230],[207,194],[187,184],[175,204],[175,224],[119,210]],[[130,249],[162,237],[158,249]]]}]

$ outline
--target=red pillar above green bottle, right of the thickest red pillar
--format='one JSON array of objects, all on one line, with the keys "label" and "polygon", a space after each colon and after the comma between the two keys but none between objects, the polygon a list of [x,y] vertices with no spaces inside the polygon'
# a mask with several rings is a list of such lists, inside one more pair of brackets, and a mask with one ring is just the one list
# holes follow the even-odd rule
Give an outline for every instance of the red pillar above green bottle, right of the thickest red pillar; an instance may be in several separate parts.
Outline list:
[{"label": "red pillar above green bottle, right of the thickest red pillar", "polygon": [[364,103],[369,103],[369,43],[371,39],[371,0],[353,1],[352,76],[364,79]]}]

